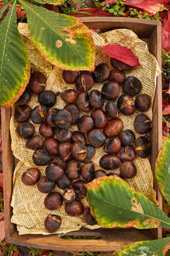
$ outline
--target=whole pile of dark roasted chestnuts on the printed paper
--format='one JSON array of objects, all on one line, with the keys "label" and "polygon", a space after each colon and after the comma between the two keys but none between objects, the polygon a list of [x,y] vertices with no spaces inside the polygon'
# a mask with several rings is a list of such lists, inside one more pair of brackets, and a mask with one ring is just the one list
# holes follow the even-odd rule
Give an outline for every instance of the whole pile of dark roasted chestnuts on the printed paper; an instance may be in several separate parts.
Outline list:
[{"label": "whole pile of dark roasted chestnuts on the printed paper", "polygon": [[[64,70],[64,82],[75,84],[76,90],[61,93],[61,99],[66,103],[63,109],[54,108],[59,96],[45,90],[43,73],[32,73],[26,91],[16,102],[14,113],[19,123],[16,132],[26,140],[26,148],[34,151],[33,163],[47,165],[46,176],[40,176],[38,169],[30,168],[23,173],[23,183],[28,186],[37,184],[38,190],[47,194],[45,208],[57,210],[64,203],[68,215],[82,215],[88,225],[96,222],[90,209],[84,209],[81,201],[87,192],[85,183],[101,176],[116,175],[108,170],[118,167],[123,179],[133,178],[137,174],[134,158],[146,158],[151,151],[147,137],[136,140],[132,130],[123,130],[123,121],[119,118],[119,112],[130,116],[137,109],[142,113],[134,120],[134,130],[141,135],[149,132],[152,123],[144,112],[150,108],[151,98],[140,94],[142,85],[137,77],[126,78],[124,70],[130,66],[115,59],[111,59],[111,64],[116,69],[110,71],[106,63],[101,63],[94,72]],[[95,83],[103,83],[102,90],[88,93]],[[39,102],[33,109],[27,105],[31,94],[37,94]],[[80,112],[87,113],[81,116]],[[35,134],[34,124],[40,125],[39,135]],[[72,131],[71,126],[75,124],[78,130]],[[92,158],[95,148],[99,147],[103,147],[106,155],[99,161],[102,169],[95,170]],[[56,186],[64,193],[54,192]],[[54,233],[61,226],[61,217],[48,215],[44,225],[48,232]]]}]

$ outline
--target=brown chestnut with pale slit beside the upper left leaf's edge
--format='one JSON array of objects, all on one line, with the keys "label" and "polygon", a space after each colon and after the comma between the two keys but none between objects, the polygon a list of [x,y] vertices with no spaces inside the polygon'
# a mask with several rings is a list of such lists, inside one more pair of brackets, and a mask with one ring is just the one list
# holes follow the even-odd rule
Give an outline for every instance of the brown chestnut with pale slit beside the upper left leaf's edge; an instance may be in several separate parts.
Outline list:
[{"label": "brown chestnut with pale slit beside the upper left leaf's edge", "polygon": [[31,74],[29,78],[29,89],[33,94],[40,94],[44,90],[46,85],[46,77],[43,73],[36,71]]}]

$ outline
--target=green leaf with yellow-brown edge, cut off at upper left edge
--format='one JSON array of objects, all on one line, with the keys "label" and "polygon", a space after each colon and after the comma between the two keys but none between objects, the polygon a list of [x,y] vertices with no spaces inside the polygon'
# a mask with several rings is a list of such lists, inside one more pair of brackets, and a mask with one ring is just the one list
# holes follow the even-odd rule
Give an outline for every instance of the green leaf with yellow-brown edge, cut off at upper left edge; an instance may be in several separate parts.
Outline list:
[{"label": "green leaf with yellow-brown edge, cut off at upper left edge", "polygon": [[29,57],[17,30],[16,1],[0,23],[0,105],[12,105],[29,81]]}]

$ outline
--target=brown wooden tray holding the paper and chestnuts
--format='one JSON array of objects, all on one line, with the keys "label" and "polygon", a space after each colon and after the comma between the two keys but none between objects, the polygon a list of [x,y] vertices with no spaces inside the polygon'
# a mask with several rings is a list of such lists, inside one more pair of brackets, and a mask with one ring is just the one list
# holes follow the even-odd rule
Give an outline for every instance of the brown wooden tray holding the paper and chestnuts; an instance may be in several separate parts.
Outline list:
[{"label": "brown wooden tray holding the paper and chestnuts", "polygon": [[[115,17],[88,17],[80,18],[89,28],[99,28],[102,32],[116,28],[127,28],[147,42],[149,51],[158,59],[161,67],[161,23],[154,20],[140,20],[134,18]],[[68,233],[69,236],[99,236],[99,239],[61,239],[61,236],[50,235],[23,235],[19,236],[16,225],[12,224],[12,173],[15,169],[16,159],[10,147],[9,119],[11,109],[2,107],[2,147],[3,147],[3,173],[5,197],[5,240],[8,243],[19,244],[26,247],[38,247],[56,251],[114,251],[124,245],[140,240],[153,240],[161,238],[161,229],[81,229]],[[161,147],[161,75],[157,79],[157,89],[153,107],[153,129],[151,141],[154,146],[151,152],[151,166],[154,173],[154,164]],[[154,188],[157,190],[159,207],[162,208],[162,197],[154,176]]]}]

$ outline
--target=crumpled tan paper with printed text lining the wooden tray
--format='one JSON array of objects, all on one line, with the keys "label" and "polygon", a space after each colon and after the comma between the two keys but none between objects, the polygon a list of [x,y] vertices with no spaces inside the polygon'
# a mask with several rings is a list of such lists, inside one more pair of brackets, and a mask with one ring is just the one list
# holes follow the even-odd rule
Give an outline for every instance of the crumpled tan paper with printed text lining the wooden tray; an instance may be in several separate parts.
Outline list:
[{"label": "crumpled tan paper with printed text lining the wooden tray", "polygon": [[[30,41],[29,31],[26,24],[19,24],[19,32],[23,35],[23,39],[26,42],[26,48],[29,52],[29,58],[33,70],[40,70],[47,76],[47,90],[52,90],[54,92],[61,92],[69,88],[75,88],[75,85],[68,85],[64,83],[62,78],[62,70],[55,67],[52,70],[52,66],[47,62],[40,53],[36,50],[35,46]],[[92,36],[95,41],[96,46],[96,57],[95,65],[101,62],[107,62],[110,69],[113,67],[109,63],[109,56],[106,55],[102,49],[101,45],[104,44],[121,44],[130,48],[141,63],[141,67],[137,66],[134,69],[127,71],[126,76],[137,76],[141,80],[142,90],[141,93],[149,94],[154,99],[154,89],[155,89],[155,77],[160,73],[158,68],[158,62],[148,52],[147,44],[144,41],[141,41],[133,31],[127,29],[112,30],[104,34],[96,34],[92,31]],[[98,89],[101,91],[102,84],[95,84],[92,87],[92,90]],[[122,91],[121,91],[122,94]],[[32,96],[29,105],[33,108],[35,105],[38,105],[37,97]],[[57,103],[54,107],[63,108],[65,105],[64,101],[61,100],[61,97],[57,97]],[[12,118],[10,122],[10,131],[12,137],[12,151],[13,155],[20,160],[16,166],[14,175],[13,175],[13,194],[11,205],[13,207],[12,222],[16,223],[19,234],[48,234],[44,228],[43,222],[46,216],[49,213],[57,214],[61,216],[62,223],[61,228],[57,233],[67,233],[69,231],[78,230],[81,226],[88,227],[90,229],[99,228],[99,226],[87,226],[83,222],[82,216],[71,217],[64,212],[64,204],[57,211],[47,210],[43,201],[47,194],[42,194],[37,189],[36,185],[33,187],[28,187],[24,185],[21,181],[21,176],[26,169],[31,166],[36,166],[33,164],[32,156],[33,151],[26,148],[26,140],[23,140],[16,133],[17,123],[13,118],[15,107],[12,108]],[[104,107],[103,107],[104,109]],[[81,115],[85,114],[81,112]],[[123,120],[123,129],[134,130],[134,118],[139,112],[135,112],[133,116],[123,116],[120,114],[120,118]],[[152,118],[151,108],[146,113],[147,116]],[[39,125],[36,125],[36,131],[38,131]],[[76,126],[71,126],[72,130],[77,130]],[[134,131],[135,133],[135,131]],[[138,137],[139,134],[135,133]],[[105,155],[105,152],[102,148],[96,149],[95,158],[93,162],[95,163],[95,169],[101,169],[99,167],[99,159],[102,155]],[[146,195],[151,201],[157,203],[156,194],[153,190],[153,176],[151,171],[151,165],[147,158],[137,157],[134,160],[134,164],[137,166],[137,176],[133,179],[128,179],[127,183],[130,187],[134,187],[135,190],[140,191]],[[40,172],[44,174],[45,167],[37,167],[40,169]],[[119,169],[114,170],[114,172],[119,172]],[[63,194],[63,190],[55,188],[56,191]],[[88,205],[86,198],[82,201],[86,206]]]}]

